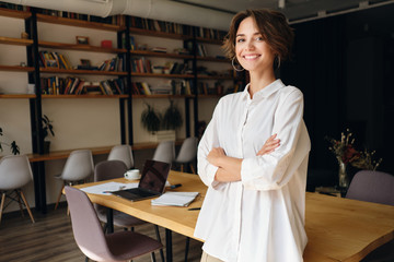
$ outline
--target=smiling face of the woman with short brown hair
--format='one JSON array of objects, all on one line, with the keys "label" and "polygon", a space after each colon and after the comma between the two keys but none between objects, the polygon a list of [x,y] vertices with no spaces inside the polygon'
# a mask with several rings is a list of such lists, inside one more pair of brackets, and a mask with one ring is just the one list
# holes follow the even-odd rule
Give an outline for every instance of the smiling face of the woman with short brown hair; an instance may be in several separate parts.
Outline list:
[{"label": "smiling face of the woman with short brown hair", "polygon": [[244,19],[239,26],[235,55],[241,66],[248,71],[273,69],[275,55],[252,17]]}]

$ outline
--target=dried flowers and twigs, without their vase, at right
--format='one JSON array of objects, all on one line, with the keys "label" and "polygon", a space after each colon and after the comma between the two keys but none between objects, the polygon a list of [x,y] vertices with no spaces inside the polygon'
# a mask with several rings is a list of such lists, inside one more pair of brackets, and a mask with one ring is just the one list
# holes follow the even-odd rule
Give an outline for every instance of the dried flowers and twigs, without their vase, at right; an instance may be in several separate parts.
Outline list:
[{"label": "dried flowers and twigs, without their vase, at right", "polygon": [[382,158],[379,160],[372,159],[375,151],[357,151],[354,146],[355,139],[351,135],[350,130],[346,129],[346,133],[340,133],[340,141],[326,138],[332,144],[328,150],[334,153],[338,163],[350,164],[360,169],[375,170],[382,163]]}]

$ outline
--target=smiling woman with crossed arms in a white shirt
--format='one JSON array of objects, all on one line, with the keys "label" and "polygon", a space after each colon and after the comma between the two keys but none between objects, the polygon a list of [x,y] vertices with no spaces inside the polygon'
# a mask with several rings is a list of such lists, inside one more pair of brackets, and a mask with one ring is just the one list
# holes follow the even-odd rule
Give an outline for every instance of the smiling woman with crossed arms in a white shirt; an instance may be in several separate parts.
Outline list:
[{"label": "smiling woman with crossed arms in a white shirt", "polygon": [[310,152],[303,96],[274,74],[292,40],[279,12],[247,10],[232,20],[224,48],[251,81],[219,100],[198,146],[208,186],[195,230],[205,240],[201,261],[302,261]]}]

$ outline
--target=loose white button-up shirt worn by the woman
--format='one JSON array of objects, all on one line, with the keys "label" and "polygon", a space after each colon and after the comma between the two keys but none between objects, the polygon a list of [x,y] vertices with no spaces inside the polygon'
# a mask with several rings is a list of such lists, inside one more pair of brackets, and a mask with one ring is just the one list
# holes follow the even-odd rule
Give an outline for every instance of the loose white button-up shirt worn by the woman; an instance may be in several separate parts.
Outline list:
[{"label": "loose white button-up shirt worn by the woman", "polygon": [[[308,158],[311,147],[303,95],[275,81],[251,99],[242,93],[222,97],[198,146],[198,175],[208,191],[195,237],[202,249],[227,262],[303,261]],[[277,133],[280,146],[256,156]],[[243,158],[241,181],[215,181],[207,155],[222,147]]]}]

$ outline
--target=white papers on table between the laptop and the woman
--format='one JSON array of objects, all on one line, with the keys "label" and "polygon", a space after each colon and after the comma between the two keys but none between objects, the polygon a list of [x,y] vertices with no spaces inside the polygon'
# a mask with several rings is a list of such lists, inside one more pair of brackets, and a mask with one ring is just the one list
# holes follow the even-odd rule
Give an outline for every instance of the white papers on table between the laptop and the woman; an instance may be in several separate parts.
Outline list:
[{"label": "white papers on table between the laptop and the woman", "polygon": [[158,199],[151,200],[152,205],[188,206],[198,192],[165,192]]}]

